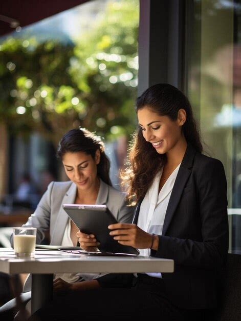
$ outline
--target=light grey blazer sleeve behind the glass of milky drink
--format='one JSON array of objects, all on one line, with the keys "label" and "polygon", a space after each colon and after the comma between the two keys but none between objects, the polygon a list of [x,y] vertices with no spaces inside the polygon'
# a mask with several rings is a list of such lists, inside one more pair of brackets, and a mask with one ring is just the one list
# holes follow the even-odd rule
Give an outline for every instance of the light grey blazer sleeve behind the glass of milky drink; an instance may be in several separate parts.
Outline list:
[{"label": "light grey blazer sleeve behind the glass of milky drink", "polygon": [[[28,218],[27,223],[23,224],[23,227],[36,227],[36,244],[40,244],[45,237],[45,231],[50,228],[50,214],[51,214],[51,194],[53,190],[54,182],[51,182],[48,186],[45,194],[42,195],[36,210]],[[13,247],[13,234],[10,237],[11,246]]]}]

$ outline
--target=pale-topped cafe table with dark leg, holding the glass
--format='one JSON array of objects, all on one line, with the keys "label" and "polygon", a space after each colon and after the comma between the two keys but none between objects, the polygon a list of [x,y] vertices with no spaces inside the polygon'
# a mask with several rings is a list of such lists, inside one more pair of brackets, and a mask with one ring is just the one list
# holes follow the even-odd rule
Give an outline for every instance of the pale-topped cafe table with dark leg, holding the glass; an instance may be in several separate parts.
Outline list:
[{"label": "pale-topped cafe table with dark leg, holding the glass", "polygon": [[16,258],[11,248],[0,248],[0,272],[32,273],[32,313],[53,298],[54,273],[142,273],[174,270],[172,259],[146,256],[94,256],[36,250],[34,258]]}]

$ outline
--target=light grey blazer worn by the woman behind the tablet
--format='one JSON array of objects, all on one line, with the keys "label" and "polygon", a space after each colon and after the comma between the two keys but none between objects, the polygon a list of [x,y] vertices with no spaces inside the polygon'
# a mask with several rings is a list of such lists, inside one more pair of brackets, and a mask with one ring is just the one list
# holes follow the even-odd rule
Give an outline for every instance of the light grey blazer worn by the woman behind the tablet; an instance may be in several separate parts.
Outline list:
[{"label": "light grey blazer worn by the woman behind the tablet", "polygon": [[[24,227],[36,227],[36,244],[40,244],[45,232],[50,230],[50,245],[61,245],[64,230],[68,223],[68,214],[63,210],[63,204],[75,202],[77,187],[71,182],[51,182],[43,194],[35,212],[29,217]],[[125,194],[100,180],[100,189],[96,204],[105,204],[118,222],[132,223],[134,208],[126,206]],[[11,235],[11,245],[13,238]],[[26,279],[24,291],[31,290],[30,277]]]}]

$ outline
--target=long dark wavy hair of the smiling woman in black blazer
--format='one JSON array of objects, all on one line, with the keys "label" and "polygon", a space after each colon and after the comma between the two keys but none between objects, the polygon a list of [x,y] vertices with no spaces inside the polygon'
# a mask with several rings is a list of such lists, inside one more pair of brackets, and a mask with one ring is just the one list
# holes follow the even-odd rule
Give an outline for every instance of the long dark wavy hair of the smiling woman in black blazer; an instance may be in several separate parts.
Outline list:
[{"label": "long dark wavy hair of the smiling woman in black blazer", "polygon": [[[184,109],[187,119],[182,126],[186,141],[199,152],[203,151],[200,134],[193,118],[192,108],[188,98],[176,87],[169,84],[157,84],[149,87],[136,101],[136,112],[148,107],[160,116],[168,116],[176,121],[178,111]],[[166,162],[166,155],[159,154],[146,142],[142,130],[139,128],[130,143],[128,151],[129,162],[122,172],[123,185],[127,183],[127,198],[135,205],[144,197],[154,177]]]}]

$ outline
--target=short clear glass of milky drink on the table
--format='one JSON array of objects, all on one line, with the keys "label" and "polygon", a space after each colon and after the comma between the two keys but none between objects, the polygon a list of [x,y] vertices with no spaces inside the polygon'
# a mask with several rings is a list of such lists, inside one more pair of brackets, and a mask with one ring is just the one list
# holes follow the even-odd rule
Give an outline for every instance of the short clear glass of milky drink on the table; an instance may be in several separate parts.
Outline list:
[{"label": "short clear glass of milky drink on the table", "polygon": [[13,248],[18,257],[34,257],[36,244],[35,227],[14,227]]}]

